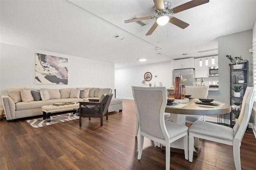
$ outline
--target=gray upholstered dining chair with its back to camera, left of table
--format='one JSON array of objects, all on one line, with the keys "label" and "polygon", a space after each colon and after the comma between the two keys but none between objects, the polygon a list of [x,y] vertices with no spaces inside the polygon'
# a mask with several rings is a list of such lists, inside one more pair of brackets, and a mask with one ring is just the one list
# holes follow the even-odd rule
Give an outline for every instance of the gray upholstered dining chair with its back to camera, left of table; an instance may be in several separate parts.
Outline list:
[{"label": "gray upholstered dining chair with its back to camera, left of table", "polygon": [[134,102],[139,118],[140,142],[138,160],[141,159],[144,137],[166,146],[166,170],[170,169],[170,143],[183,138],[185,159],[188,160],[188,127],[164,121],[167,103],[165,87],[134,87]]}]

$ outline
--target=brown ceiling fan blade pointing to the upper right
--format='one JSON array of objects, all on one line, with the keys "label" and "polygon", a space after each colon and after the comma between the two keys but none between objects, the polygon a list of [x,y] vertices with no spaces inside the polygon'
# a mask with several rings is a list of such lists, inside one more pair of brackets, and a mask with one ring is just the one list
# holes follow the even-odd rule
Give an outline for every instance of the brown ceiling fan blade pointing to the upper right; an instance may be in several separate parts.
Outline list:
[{"label": "brown ceiling fan blade pointing to the upper right", "polygon": [[172,9],[170,9],[170,14],[176,14],[178,12],[181,12],[181,11],[184,11],[184,10],[187,10],[187,9],[190,9],[190,8],[202,5],[202,4],[206,4],[208,2],[209,2],[209,0],[192,0],[185,4],[182,4],[180,6],[176,6]]}]

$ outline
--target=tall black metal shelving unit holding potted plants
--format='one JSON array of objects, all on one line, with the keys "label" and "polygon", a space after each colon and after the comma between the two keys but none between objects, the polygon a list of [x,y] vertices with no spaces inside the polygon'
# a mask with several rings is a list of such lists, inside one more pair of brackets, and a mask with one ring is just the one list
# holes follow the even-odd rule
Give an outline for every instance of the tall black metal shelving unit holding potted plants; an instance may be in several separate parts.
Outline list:
[{"label": "tall black metal shelving unit holding potted plants", "polygon": [[[234,105],[234,102],[242,103],[244,93],[246,90],[246,87],[248,86],[249,81],[249,73],[248,73],[248,67],[249,62],[246,61],[244,63],[241,63],[243,65],[242,69],[234,69],[234,64],[230,64],[230,105]],[[244,77],[244,83],[239,83],[240,77]],[[234,86],[242,86],[242,90],[240,91],[240,97],[234,97]],[[235,123],[235,117],[239,116],[240,110],[236,110],[232,107],[231,113],[230,113],[230,125],[234,125]]]}]

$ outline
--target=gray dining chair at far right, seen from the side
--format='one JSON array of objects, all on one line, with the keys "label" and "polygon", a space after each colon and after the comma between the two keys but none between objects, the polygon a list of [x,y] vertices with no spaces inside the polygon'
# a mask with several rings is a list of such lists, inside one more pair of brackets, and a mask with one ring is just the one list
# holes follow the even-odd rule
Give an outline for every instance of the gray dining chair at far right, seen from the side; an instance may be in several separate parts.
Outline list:
[{"label": "gray dining chair at far right, seen from the side", "polygon": [[196,121],[191,125],[188,129],[190,162],[193,161],[194,137],[198,137],[233,146],[236,170],[241,170],[240,146],[249,123],[255,94],[254,87],[246,88],[238,123],[233,128],[204,121]]}]

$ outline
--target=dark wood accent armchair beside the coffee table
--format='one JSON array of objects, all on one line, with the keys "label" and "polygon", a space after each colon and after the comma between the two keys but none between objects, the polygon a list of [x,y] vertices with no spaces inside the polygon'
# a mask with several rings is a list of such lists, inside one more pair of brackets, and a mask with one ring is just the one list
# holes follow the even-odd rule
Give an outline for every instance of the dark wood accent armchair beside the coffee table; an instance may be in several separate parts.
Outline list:
[{"label": "dark wood accent armchair beside the coffee table", "polygon": [[82,126],[82,117],[99,117],[100,126],[103,126],[103,116],[106,115],[108,120],[108,107],[113,94],[107,94],[102,101],[99,102],[79,102],[79,126]]}]

